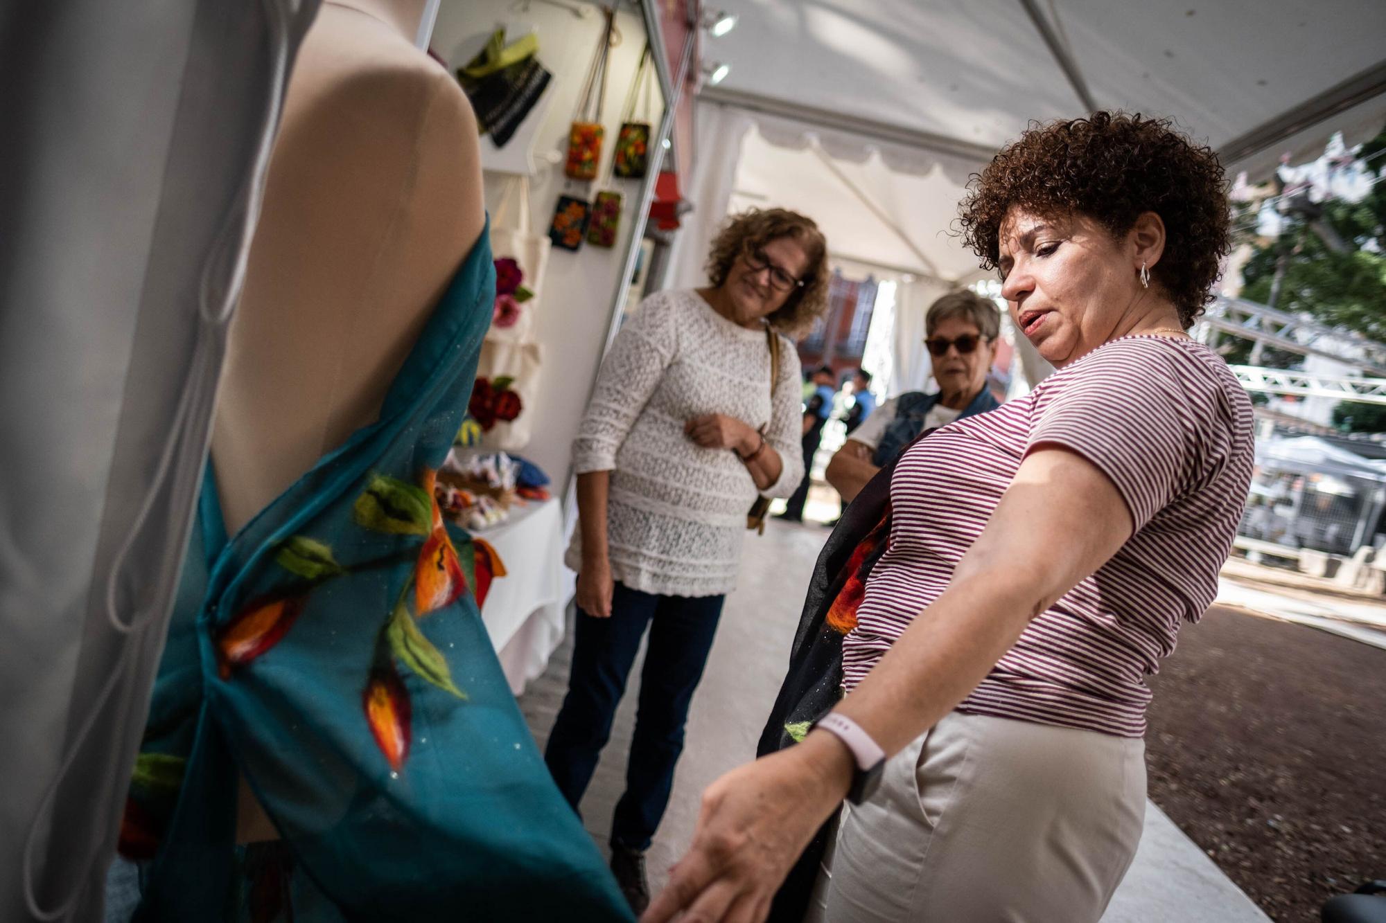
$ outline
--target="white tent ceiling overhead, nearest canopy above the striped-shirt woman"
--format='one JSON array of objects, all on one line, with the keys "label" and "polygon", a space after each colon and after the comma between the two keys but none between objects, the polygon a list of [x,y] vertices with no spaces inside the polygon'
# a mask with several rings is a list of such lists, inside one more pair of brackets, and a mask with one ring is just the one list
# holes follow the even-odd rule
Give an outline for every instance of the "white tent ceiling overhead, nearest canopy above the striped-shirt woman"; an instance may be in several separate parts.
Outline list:
[{"label": "white tent ceiling overhead, nearest canopy above the striped-shirt woman", "polygon": [[[1321,150],[1333,130],[1353,143],[1386,121],[1382,0],[718,6],[740,22],[704,46],[704,58],[732,65],[711,96],[726,90],[812,107],[923,141],[984,151],[1031,119],[1084,114],[1088,107],[1059,62],[1064,55],[1096,107],[1173,115],[1227,152],[1229,166],[1253,173],[1282,151]],[[1319,118],[1329,98],[1337,111]]]}]

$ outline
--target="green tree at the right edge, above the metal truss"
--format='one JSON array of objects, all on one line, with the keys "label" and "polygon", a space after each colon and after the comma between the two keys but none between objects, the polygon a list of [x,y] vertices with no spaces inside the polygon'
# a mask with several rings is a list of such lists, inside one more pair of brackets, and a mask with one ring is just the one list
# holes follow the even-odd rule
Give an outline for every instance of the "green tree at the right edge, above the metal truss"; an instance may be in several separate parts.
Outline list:
[{"label": "green tree at the right edge, above the metal truss", "polygon": [[[1383,148],[1386,129],[1362,146],[1372,170],[1386,166]],[[1271,301],[1282,256],[1277,308],[1386,341],[1386,183],[1376,183],[1357,204],[1306,205],[1277,240],[1256,248],[1243,270],[1245,298]]]}]

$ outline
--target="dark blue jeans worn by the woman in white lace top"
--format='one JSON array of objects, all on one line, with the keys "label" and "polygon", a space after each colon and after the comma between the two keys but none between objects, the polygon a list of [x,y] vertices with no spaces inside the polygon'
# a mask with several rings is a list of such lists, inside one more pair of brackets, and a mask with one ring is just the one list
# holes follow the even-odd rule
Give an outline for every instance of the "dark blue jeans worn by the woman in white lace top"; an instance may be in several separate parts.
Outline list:
[{"label": "dark blue jeans worn by the woman in white lace top", "polygon": [[559,791],[578,809],[625,680],[650,626],[640,676],[640,708],[626,762],[625,793],[611,819],[611,843],[647,850],[674,786],[674,764],[683,751],[683,725],[693,690],[703,678],[725,596],[657,596],[615,585],[611,618],[578,610],[568,694],[549,735],[543,759]]}]

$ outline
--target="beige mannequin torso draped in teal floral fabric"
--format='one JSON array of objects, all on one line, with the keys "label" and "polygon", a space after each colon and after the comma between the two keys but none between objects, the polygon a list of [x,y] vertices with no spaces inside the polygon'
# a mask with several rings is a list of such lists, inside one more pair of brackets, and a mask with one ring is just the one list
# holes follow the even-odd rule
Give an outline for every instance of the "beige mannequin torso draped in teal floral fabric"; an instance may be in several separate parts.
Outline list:
[{"label": "beige mannequin torso draped in teal floral fabric", "polygon": [[[485,227],[477,122],[424,0],[328,0],[298,55],[212,432],[234,534],[371,423]],[[277,833],[241,780],[237,838]]]}]

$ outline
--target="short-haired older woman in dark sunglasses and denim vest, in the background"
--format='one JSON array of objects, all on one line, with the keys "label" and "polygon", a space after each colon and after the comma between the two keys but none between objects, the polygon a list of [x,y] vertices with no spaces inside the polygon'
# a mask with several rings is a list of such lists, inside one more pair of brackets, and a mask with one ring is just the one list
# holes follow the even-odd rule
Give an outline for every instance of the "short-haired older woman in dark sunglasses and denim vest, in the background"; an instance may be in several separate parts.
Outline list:
[{"label": "short-haired older woman in dark sunglasses and denim vest, in the background", "polygon": [[924,430],[1001,406],[987,389],[1001,331],[991,301],[970,291],[948,292],[929,306],[924,331],[938,391],[891,398],[852,431],[825,471],[844,504]]}]

